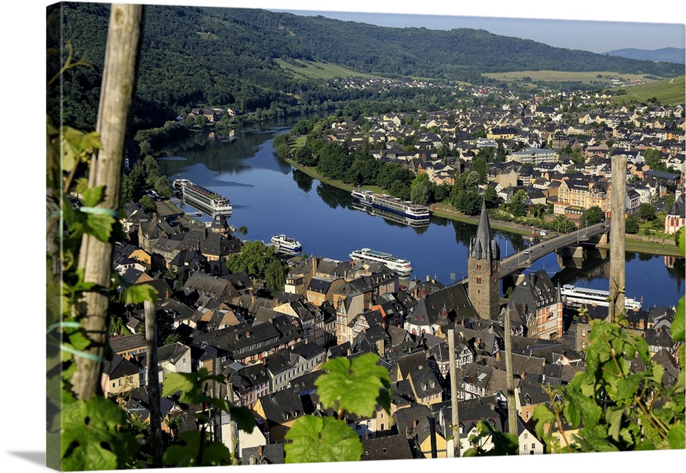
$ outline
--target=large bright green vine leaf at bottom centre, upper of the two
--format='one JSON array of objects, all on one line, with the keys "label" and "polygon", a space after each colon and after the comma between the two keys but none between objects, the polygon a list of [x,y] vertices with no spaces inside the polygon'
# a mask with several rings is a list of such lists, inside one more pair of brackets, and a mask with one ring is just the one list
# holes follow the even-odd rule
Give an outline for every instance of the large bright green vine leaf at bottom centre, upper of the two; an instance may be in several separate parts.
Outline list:
[{"label": "large bright green vine leaf at bottom centre, upper of the two", "polygon": [[342,356],[324,364],[326,374],[315,381],[324,409],[344,409],[357,415],[371,417],[377,404],[390,411],[390,376],[386,368],[377,365],[379,357],[366,353],[348,360]]}]

